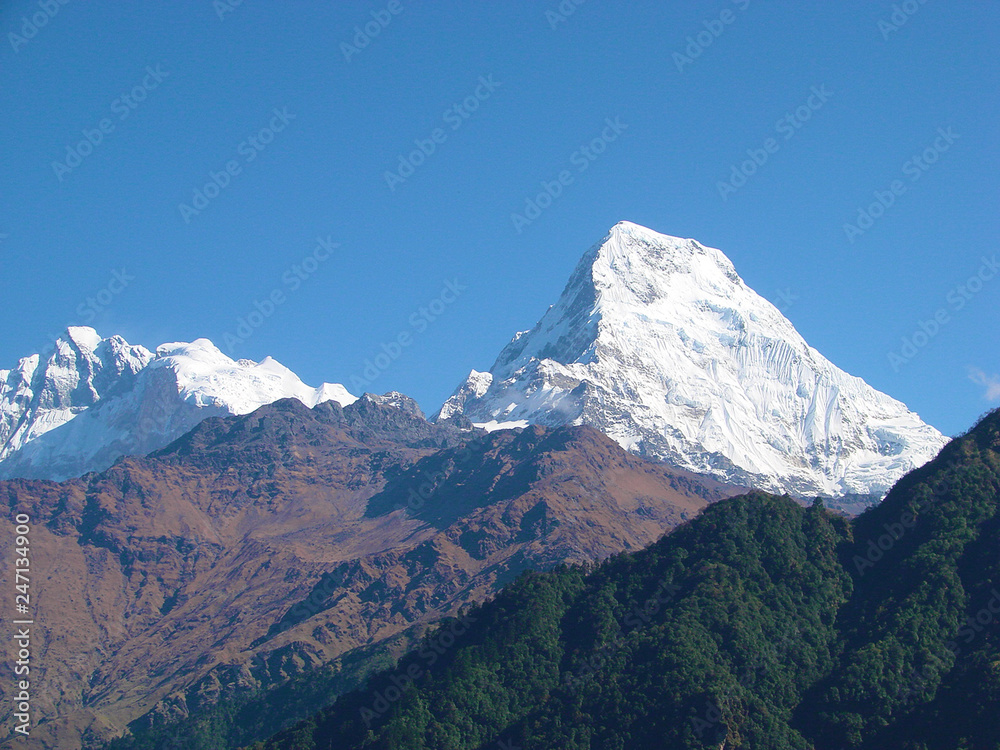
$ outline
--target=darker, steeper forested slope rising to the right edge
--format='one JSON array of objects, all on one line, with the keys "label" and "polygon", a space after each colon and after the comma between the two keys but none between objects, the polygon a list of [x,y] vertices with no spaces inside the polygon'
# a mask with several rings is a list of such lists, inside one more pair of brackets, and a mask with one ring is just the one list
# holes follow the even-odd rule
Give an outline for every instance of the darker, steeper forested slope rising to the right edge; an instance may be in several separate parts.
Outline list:
[{"label": "darker, steeper forested slope rising to the right edge", "polygon": [[837,668],[800,716],[832,747],[1000,747],[1000,412],[854,524]]}]

